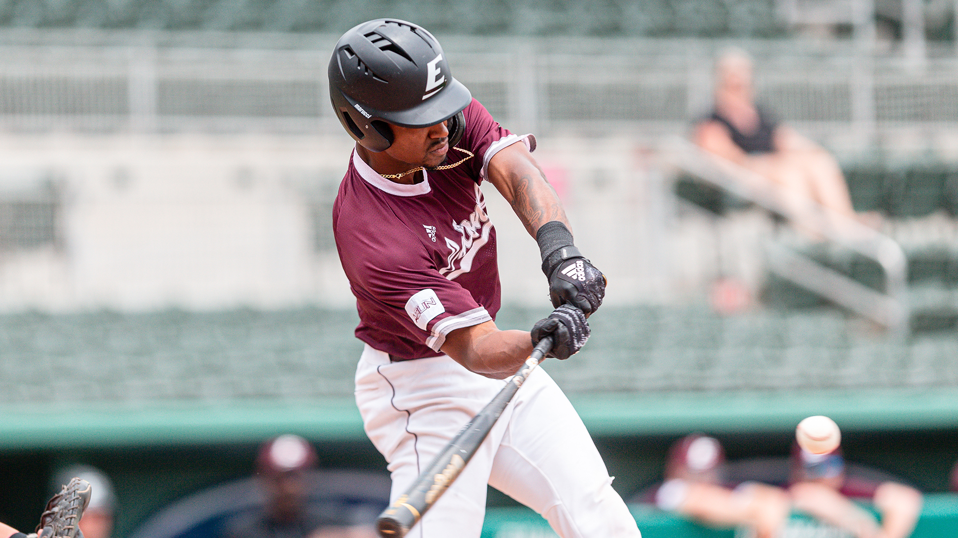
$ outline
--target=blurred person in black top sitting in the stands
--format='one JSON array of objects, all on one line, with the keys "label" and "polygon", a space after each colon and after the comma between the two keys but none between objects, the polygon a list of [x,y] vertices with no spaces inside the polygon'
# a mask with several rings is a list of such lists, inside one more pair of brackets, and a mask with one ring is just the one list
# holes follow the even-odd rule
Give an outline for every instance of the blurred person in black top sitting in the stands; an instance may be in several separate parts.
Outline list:
[{"label": "blurred person in black top sitting in the stands", "polygon": [[[716,63],[715,109],[696,125],[698,146],[736,165],[756,172],[763,185],[773,188],[786,216],[799,229],[812,235],[822,213],[809,201],[834,213],[876,227],[878,213],[857,215],[841,168],[828,151],[780,123],[768,110],[755,104],[752,60],[739,49],[726,51]],[[841,226],[826,223],[841,230]]]}]

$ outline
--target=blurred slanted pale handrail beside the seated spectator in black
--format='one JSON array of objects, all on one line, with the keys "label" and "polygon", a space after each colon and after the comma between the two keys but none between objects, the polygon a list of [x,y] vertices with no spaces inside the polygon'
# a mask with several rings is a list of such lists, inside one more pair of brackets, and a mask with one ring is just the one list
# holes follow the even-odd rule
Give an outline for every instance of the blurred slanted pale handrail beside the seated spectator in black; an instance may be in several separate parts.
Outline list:
[{"label": "blurred slanted pale handrail beside the seated spectator in black", "polygon": [[[672,167],[723,191],[789,219],[799,217],[794,207],[781,202],[762,176],[707,153],[685,139],[670,139],[663,146],[662,155]],[[892,331],[904,330],[909,319],[907,260],[899,244],[810,198],[800,201],[799,206],[811,210],[801,215],[802,225],[810,228],[811,233],[878,262],[884,272],[884,291],[852,280],[781,242],[768,244],[769,270]],[[809,214],[816,217],[809,218]]]}]

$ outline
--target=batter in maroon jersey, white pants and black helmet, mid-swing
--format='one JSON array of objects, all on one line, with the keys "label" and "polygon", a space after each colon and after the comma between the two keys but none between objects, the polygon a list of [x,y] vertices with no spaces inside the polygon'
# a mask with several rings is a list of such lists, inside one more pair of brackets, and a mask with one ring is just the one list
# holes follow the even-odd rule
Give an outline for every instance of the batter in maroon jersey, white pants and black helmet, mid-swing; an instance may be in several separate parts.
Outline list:
[{"label": "batter in maroon jersey, white pants and black helmet, mid-swing", "polygon": [[[356,403],[395,501],[542,337],[553,336],[559,359],[582,347],[605,280],[574,246],[532,157],[535,137],[496,123],[452,78],[432,34],[396,19],[360,24],[336,44],[329,77],[335,114],[356,141],[332,213],[365,343]],[[540,249],[556,309],[531,332],[493,321],[500,285],[483,181]],[[563,538],[639,537],[611,482],[579,415],[536,370],[408,536],[478,537],[489,483]]]}]

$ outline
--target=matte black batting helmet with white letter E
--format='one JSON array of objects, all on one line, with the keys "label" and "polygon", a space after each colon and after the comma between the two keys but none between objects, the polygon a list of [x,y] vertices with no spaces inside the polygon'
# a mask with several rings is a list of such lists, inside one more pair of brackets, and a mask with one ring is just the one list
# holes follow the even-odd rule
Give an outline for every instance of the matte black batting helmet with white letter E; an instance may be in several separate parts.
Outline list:
[{"label": "matte black batting helmet with white letter E", "polygon": [[[336,117],[371,151],[393,144],[387,123],[427,127],[457,116],[472,101],[452,78],[439,41],[399,19],[367,21],[343,34],[329,76]],[[449,125],[449,146],[462,134],[462,117],[456,120]]]}]

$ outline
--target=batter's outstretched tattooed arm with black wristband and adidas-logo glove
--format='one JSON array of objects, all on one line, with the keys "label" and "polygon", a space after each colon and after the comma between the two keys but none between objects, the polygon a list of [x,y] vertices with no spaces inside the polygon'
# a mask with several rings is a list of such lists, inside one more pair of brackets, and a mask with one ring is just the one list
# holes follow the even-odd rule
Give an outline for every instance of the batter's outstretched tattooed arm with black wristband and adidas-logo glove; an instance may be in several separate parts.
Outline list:
[{"label": "batter's outstretched tattooed arm with black wristband and adidas-logo glove", "polygon": [[570,303],[586,316],[595,312],[605,296],[605,277],[576,248],[559,195],[526,145],[517,142],[493,155],[488,177],[536,238],[553,306]]}]

